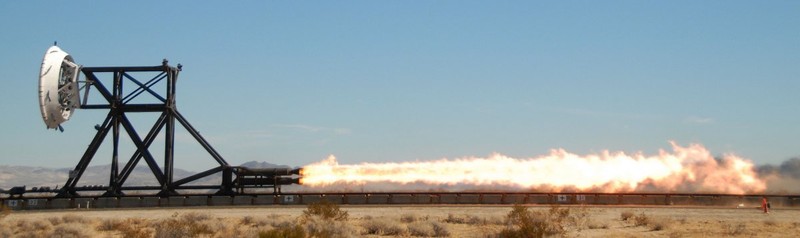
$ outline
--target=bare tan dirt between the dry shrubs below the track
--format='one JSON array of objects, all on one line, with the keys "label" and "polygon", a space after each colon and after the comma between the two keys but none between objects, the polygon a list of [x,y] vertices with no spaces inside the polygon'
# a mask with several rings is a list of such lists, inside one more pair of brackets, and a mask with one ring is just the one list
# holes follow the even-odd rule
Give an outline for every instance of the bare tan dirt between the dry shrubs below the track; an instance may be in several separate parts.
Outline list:
[{"label": "bare tan dirt between the dry shrubs below the track", "polygon": [[[769,214],[764,214],[753,207],[562,206],[561,208],[568,208],[572,216],[581,217],[565,225],[566,232],[563,236],[566,237],[797,237],[800,234],[800,210],[798,209],[773,209]],[[251,220],[283,220],[284,222],[296,223],[299,222],[299,218],[305,209],[306,207],[304,206],[259,206],[15,211],[4,218],[0,218],[2,219],[0,223],[5,224],[5,226],[0,226],[0,229],[6,229],[6,236],[9,234],[11,236],[21,234],[9,231],[15,226],[28,227],[24,229],[57,230],[56,225],[59,222],[53,222],[54,218],[58,220],[57,218],[63,217],[60,223],[65,223],[68,222],[67,217],[77,216],[80,217],[79,220],[83,221],[80,223],[80,226],[84,226],[83,229],[92,230],[90,233],[82,233],[83,235],[121,237],[128,235],[113,229],[101,229],[103,221],[145,220],[151,221],[149,224],[153,226],[155,223],[153,221],[181,217],[186,214],[200,214],[207,217],[206,219],[227,224],[227,226],[258,224],[258,222],[246,222],[245,217],[249,217],[248,219]],[[349,213],[350,219],[347,220],[346,225],[351,227],[348,229],[352,229],[353,233],[348,236],[410,237],[415,236],[412,223],[415,221],[432,221],[444,225],[449,237],[492,237],[507,227],[505,218],[512,208],[511,206],[345,205],[341,209]],[[528,210],[541,212],[546,212],[549,209],[551,209],[550,206],[528,207]],[[644,215],[651,222],[650,224],[637,226],[633,218],[623,220],[622,214],[624,213],[633,214],[634,217]],[[376,235],[368,232],[365,224],[376,219],[390,221],[396,224],[400,231],[393,235]],[[48,220],[53,224],[42,222]],[[270,224],[270,221],[266,221],[264,224]],[[276,226],[274,221],[272,224]],[[264,225],[263,229],[270,229],[270,226]],[[230,232],[228,231],[227,235],[245,234]],[[56,233],[58,232],[38,234]],[[157,232],[150,233],[150,235],[155,233]],[[3,232],[0,232],[0,237],[3,234]],[[257,233],[248,234],[257,235]],[[219,237],[223,235],[206,234],[203,236]]]}]

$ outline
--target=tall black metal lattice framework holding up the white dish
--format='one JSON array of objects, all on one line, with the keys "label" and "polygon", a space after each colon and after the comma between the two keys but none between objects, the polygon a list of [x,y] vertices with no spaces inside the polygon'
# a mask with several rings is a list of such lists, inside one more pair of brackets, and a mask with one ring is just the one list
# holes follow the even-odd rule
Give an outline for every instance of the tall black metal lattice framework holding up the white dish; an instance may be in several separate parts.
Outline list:
[{"label": "tall black metal lattice framework holding up the white dish", "polygon": [[[159,196],[176,195],[178,189],[219,189],[218,194],[233,194],[233,188],[236,186],[232,181],[233,167],[228,165],[228,162],[214,150],[213,147],[206,141],[200,133],[189,124],[189,121],[178,112],[175,107],[175,86],[178,80],[178,74],[181,71],[181,65],[172,67],[164,60],[160,66],[145,66],[145,67],[84,67],[81,69],[86,77],[84,85],[83,103],[80,108],[82,109],[102,109],[109,110],[108,115],[101,125],[96,126],[97,134],[92,139],[91,144],[86,149],[86,152],[81,157],[78,165],[70,172],[69,179],[64,187],[59,191],[58,197],[75,197],[79,196],[78,191],[105,191],[104,196],[123,196],[123,190],[159,190]],[[134,75],[141,72],[157,73],[157,75],[146,82],[139,81]],[[113,75],[111,78],[112,86],[109,90],[101,80],[100,76]],[[108,79],[105,79],[108,81]],[[159,82],[166,80],[166,97],[153,90],[153,87]],[[133,83],[136,87],[135,90],[125,93],[123,90],[124,85]],[[106,103],[102,104],[87,104],[89,92],[97,91]],[[131,103],[133,99],[139,97],[143,93],[148,93],[156,98],[158,103]],[[131,121],[128,119],[127,113],[160,113],[160,116],[150,128],[149,132],[142,138],[136,132]],[[175,181],[173,179],[173,166],[174,166],[174,145],[175,145],[175,126],[176,123],[183,126],[189,134],[213,157],[219,166],[208,169],[206,171],[188,176],[186,178]],[[119,162],[119,139],[120,130],[124,130],[130,137],[133,144],[136,146],[135,152],[130,156],[124,167],[120,170],[118,167]],[[164,163],[163,168],[160,168],[156,159],[150,151],[150,146],[153,144],[156,136],[165,132],[165,145],[164,145]],[[102,145],[108,134],[111,134],[113,152],[111,157],[111,171],[108,186],[92,187],[92,188],[78,188],[76,187],[81,176],[86,171],[89,163],[95,157],[98,149]],[[136,165],[144,160],[150,171],[158,181],[158,186],[132,186],[123,187],[125,181],[133,172]],[[219,186],[216,185],[195,185],[189,186],[187,183],[197,181],[198,179],[222,172],[222,181]]]}]

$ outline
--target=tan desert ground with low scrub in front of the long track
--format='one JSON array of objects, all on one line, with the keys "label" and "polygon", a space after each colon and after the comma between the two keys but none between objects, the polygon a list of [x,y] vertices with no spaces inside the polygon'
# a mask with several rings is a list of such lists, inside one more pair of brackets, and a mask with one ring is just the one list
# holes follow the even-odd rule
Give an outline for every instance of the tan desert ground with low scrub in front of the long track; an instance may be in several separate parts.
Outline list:
[{"label": "tan desert ground with low scrub in front of the long track", "polygon": [[[799,209],[674,206],[520,206],[564,237],[796,237]],[[0,237],[506,237],[512,206],[347,206],[345,219],[306,206],[6,211]],[[557,224],[551,211],[567,216]],[[550,215],[548,215],[550,214]],[[283,229],[288,233],[268,233]],[[505,235],[504,235],[505,234]],[[519,233],[518,233],[519,234]],[[296,236],[296,232],[294,233]],[[525,236],[522,237],[534,237]]]}]

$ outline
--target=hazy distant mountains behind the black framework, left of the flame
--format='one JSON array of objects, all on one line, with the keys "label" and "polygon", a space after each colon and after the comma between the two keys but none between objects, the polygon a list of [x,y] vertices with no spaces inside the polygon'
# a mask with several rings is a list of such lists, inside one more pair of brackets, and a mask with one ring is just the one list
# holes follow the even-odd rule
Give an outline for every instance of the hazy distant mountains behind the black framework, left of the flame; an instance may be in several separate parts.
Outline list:
[{"label": "hazy distant mountains behind the black framework, left of the flame", "polygon": [[[276,165],[268,162],[250,161],[241,164],[240,166],[250,168],[283,168],[289,167],[286,165]],[[0,189],[9,189],[14,186],[27,186],[41,187],[47,186],[50,188],[61,187],[67,181],[69,171],[73,168],[43,168],[33,166],[8,166],[0,165]],[[83,185],[108,185],[110,177],[111,165],[95,165],[89,166],[86,172],[81,176],[78,181],[78,186]],[[173,170],[174,180],[178,180],[187,176],[196,174],[194,171],[187,171],[179,168]],[[208,176],[199,181],[191,184],[219,184],[219,175]],[[150,168],[146,165],[139,165],[131,173],[125,186],[134,185],[158,185],[155,177],[150,172]]]}]

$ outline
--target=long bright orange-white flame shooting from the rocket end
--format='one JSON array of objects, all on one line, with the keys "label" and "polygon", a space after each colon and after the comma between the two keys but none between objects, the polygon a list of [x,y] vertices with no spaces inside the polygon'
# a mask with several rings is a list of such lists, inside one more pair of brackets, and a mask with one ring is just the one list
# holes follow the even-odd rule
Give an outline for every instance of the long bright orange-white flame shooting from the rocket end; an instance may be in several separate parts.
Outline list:
[{"label": "long bright orange-white flame shooting from the rocket end", "polygon": [[488,158],[440,159],[402,163],[342,165],[328,159],[303,167],[305,186],[335,184],[495,185],[520,189],[547,188],[561,191],[599,192],[713,192],[745,194],[762,192],[764,180],[753,163],[734,155],[717,160],[702,145],[681,147],[658,155],[603,151],[579,156],[563,149],[530,159],[501,154]]}]

